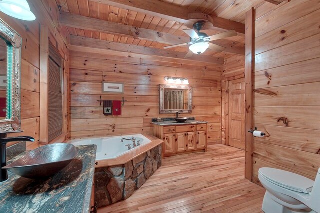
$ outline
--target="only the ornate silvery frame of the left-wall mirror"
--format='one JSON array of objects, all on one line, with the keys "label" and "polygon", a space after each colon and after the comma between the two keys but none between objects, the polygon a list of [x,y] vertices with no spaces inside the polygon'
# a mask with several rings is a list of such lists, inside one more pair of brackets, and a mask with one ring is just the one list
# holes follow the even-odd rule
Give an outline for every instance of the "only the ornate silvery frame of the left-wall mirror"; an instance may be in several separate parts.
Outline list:
[{"label": "only the ornate silvery frame of the left-wall mirror", "polygon": [[[0,133],[19,131],[21,128],[20,120],[20,69],[21,69],[21,44],[22,37],[0,18],[0,36],[12,46],[11,70],[7,73],[10,82],[10,93],[7,89],[6,96],[11,98],[10,114],[11,117],[0,120]],[[8,106],[7,106],[8,107]]]}]

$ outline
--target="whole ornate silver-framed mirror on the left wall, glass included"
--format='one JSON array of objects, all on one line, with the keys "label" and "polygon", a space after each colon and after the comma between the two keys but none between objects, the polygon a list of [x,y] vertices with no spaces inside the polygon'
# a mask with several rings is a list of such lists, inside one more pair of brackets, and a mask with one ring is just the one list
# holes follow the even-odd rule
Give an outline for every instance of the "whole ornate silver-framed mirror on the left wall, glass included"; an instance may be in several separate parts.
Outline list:
[{"label": "whole ornate silver-framed mirror on the left wall, glass included", "polygon": [[0,133],[19,131],[21,36],[0,19]]}]

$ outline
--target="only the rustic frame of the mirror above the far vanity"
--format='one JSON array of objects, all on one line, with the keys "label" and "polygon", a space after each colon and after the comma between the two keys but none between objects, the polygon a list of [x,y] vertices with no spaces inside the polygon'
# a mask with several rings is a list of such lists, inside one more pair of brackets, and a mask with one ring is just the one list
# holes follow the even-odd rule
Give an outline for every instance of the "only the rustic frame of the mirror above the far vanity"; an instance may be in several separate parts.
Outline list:
[{"label": "only the rustic frame of the mirror above the far vanity", "polygon": [[[188,109],[164,109],[163,96],[164,89],[188,89],[189,93],[189,101],[188,101]],[[160,114],[171,114],[171,113],[192,113],[192,86],[188,85],[168,85],[168,84],[159,84],[159,113]]]}]

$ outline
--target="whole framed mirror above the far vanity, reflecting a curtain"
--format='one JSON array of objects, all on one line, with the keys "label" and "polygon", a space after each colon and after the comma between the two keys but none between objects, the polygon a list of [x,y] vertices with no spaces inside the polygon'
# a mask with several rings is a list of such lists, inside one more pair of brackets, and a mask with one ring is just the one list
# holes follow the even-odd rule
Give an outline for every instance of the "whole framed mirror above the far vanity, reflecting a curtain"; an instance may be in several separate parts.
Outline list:
[{"label": "whole framed mirror above the far vanity, reflecting a curtain", "polygon": [[159,91],[160,114],[192,112],[192,86],[160,84]]}]

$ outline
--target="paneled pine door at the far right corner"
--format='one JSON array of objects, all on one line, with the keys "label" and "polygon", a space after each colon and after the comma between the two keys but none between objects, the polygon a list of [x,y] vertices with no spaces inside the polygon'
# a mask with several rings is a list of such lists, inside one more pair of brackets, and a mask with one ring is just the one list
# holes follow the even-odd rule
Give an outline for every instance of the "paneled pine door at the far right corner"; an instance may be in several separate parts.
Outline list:
[{"label": "paneled pine door at the far right corner", "polygon": [[245,82],[244,78],[229,81],[228,144],[244,149],[245,146]]}]

